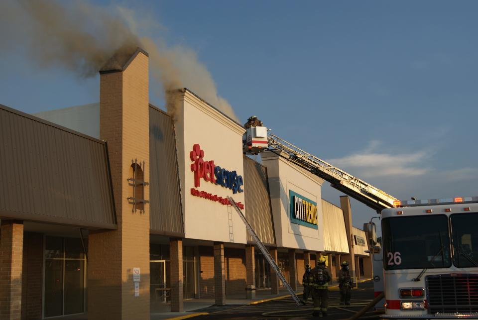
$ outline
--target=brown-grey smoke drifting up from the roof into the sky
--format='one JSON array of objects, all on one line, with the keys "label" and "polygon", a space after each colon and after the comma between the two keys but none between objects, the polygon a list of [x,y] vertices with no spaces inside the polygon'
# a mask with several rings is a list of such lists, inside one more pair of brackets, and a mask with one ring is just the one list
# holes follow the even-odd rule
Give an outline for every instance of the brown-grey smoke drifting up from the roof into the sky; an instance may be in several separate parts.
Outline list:
[{"label": "brown-grey smoke drifting up from the roof into the sky", "polygon": [[145,21],[147,28],[158,24],[136,17],[130,9],[86,1],[1,0],[0,52],[25,48],[38,68],[60,66],[80,77],[92,77],[111,57],[130,55],[142,47],[149,53],[151,76],[162,87],[152,90],[164,98],[170,114],[175,114],[177,89],[187,87],[237,121],[195,52],[170,47],[160,38],[141,37],[138,30]]}]

